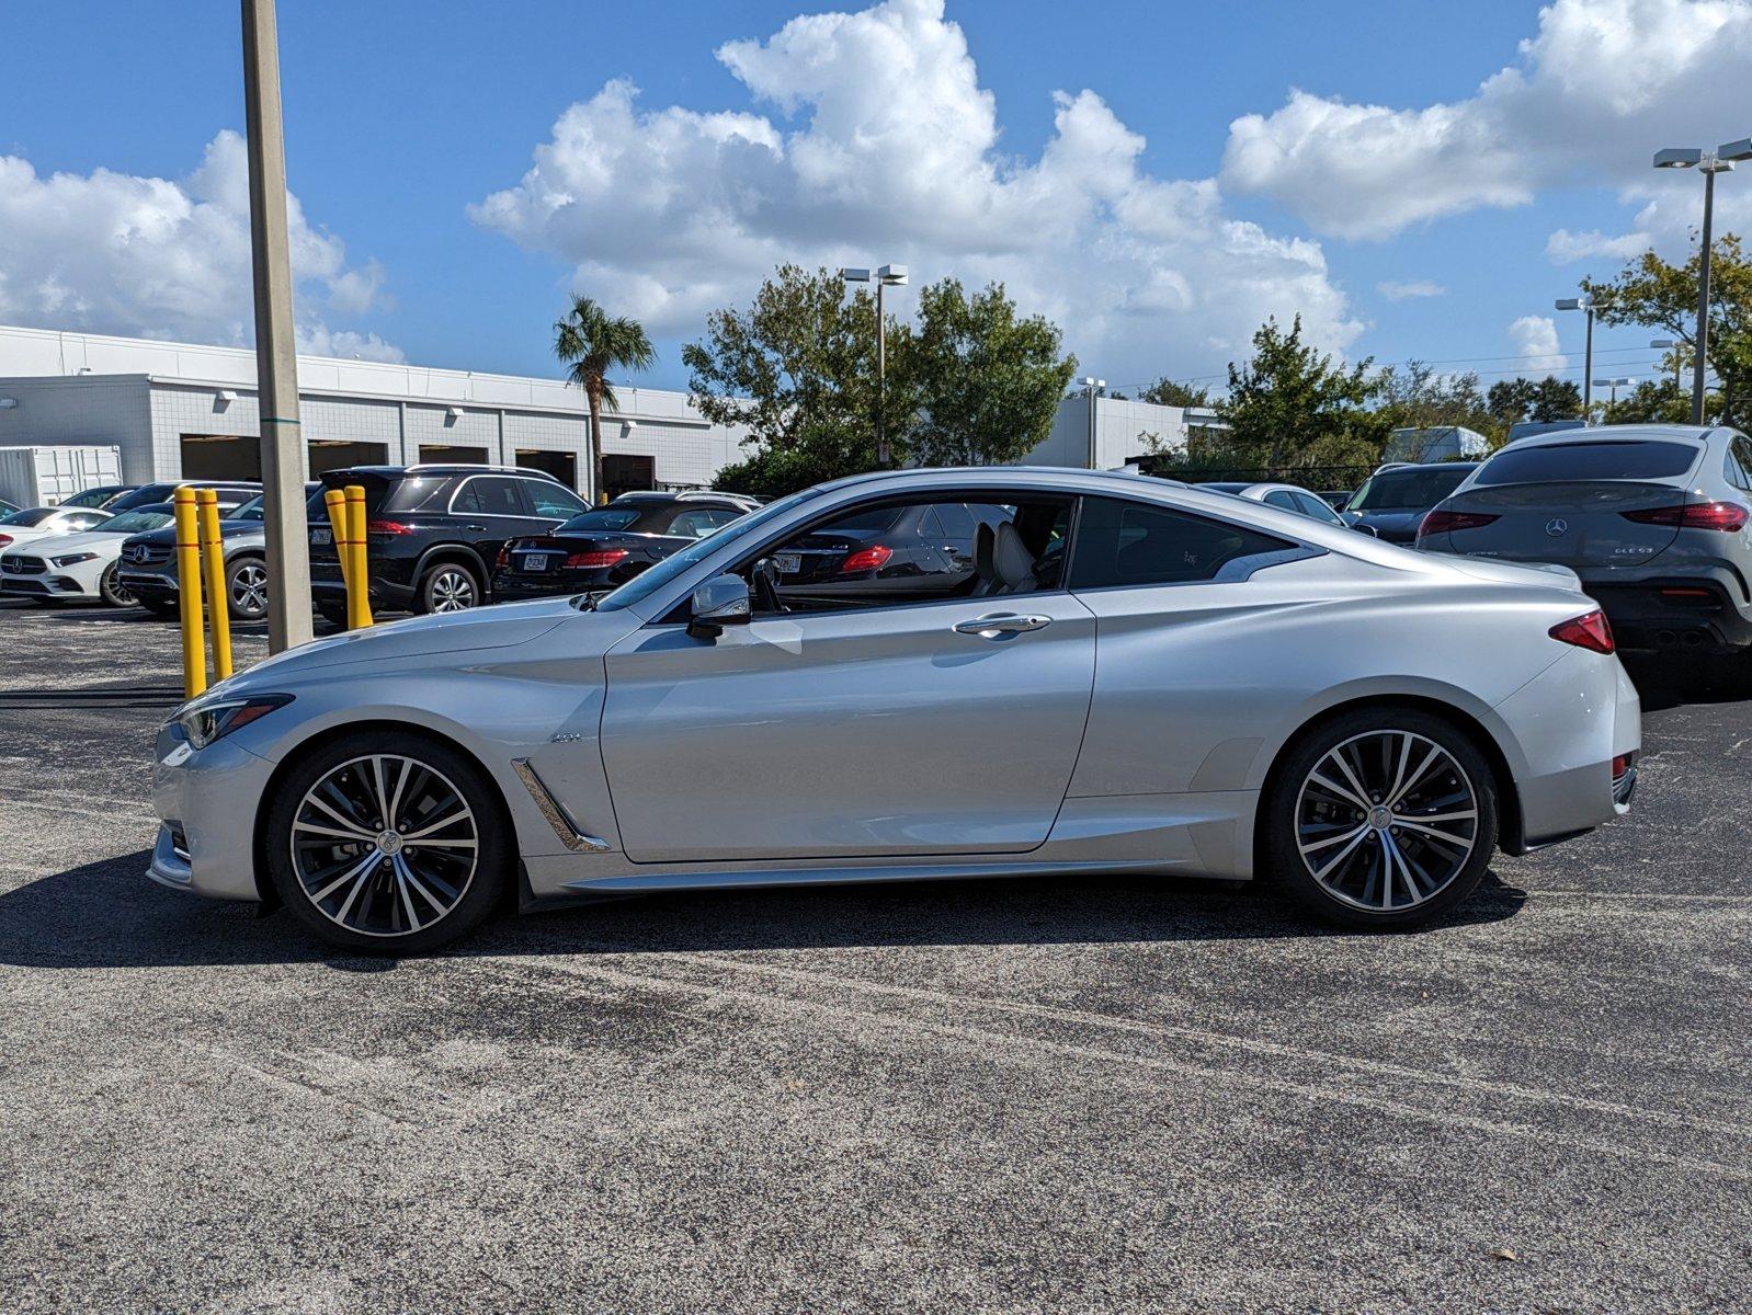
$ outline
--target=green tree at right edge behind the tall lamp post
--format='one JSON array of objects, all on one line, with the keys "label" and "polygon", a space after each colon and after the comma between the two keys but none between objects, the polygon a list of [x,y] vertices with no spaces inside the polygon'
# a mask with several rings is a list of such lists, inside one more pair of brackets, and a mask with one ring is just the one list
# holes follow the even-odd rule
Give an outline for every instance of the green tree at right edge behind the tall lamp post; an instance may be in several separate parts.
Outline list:
[{"label": "green tree at right edge behind the tall lamp post", "polygon": [[[1584,278],[1582,287],[1600,303],[1603,324],[1659,329],[1687,348],[1696,340],[1698,254],[1673,264],[1647,250],[1615,278]],[[1708,369],[1719,389],[1705,397],[1705,418],[1745,429],[1752,411],[1752,259],[1733,233],[1715,242],[1710,257]]]}]

